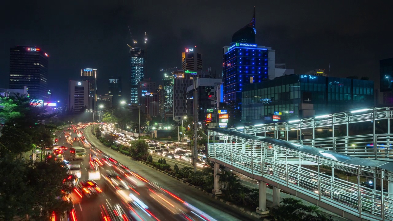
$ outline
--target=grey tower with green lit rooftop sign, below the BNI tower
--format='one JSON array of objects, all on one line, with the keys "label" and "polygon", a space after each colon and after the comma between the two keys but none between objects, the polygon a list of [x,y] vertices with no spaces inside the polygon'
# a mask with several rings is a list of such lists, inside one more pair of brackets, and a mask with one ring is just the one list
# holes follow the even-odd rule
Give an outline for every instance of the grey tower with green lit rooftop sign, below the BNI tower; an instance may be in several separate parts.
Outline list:
[{"label": "grey tower with green lit rooftop sign, below the BNI tower", "polygon": [[[187,113],[187,88],[193,85],[195,77],[203,77],[202,71],[177,70],[173,76],[173,120]],[[188,114],[187,116],[192,116]]]}]

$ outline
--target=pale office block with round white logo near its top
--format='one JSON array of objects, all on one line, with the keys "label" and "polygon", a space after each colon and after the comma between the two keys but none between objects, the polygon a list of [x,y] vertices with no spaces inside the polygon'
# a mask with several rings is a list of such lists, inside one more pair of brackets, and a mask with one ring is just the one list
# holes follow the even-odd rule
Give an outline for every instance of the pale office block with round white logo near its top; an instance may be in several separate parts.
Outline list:
[{"label": "pale office block with round white logo near its top", "polygon": [[90,95],[89,81],[68,82],[68,107],[72,113],[80,113],[83,109],[88,109]]}]

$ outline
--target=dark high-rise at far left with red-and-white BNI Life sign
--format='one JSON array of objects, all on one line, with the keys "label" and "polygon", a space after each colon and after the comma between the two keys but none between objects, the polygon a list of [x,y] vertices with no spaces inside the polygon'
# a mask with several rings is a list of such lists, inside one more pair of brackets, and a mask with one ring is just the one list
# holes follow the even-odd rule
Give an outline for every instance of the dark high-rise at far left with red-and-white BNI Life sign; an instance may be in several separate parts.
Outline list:
[{"label": "dark high-rise at far left with red-and-white BNI Life sign", "polygon": [[28,87],[32,99],[48,97],[48,57],[38,47],[16,46],[9,50],[9,88]]}]

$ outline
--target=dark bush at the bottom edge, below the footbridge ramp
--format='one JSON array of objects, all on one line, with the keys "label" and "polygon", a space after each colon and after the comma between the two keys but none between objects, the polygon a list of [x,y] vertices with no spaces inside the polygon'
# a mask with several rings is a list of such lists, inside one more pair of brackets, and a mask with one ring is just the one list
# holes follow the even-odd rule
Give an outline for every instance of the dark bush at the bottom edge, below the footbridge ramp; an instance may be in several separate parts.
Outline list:
[{"label": "dark bush at the bottom edge, below the footbridge ramp", "polygon": [[[316,214],[316,215],[314,215]],[[332,217],[321,214],[318,206],[307,206],[299,199],[284,198],[280,206],[270,210],[272,219],[276,221],[332,221]]]}]

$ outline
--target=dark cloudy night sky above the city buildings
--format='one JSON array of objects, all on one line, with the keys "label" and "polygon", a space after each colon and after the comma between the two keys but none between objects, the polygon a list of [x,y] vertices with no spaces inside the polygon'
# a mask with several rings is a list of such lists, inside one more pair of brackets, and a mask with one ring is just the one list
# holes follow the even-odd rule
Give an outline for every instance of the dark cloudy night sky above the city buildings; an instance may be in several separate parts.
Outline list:
[{"label": "dark cloudy night sky above the city buildings", "polygon": [[53,99],[64,101],[68,80],[77,80],[83,68],[98,69],[99,94],[107,92],[110,76],[121,76],[128,95],[127,44],[134,38],[144,48],[145,31],[146,77],[161,83],[160,69],[180,69],[181,52],[195,45],[202,50],[204,70],[211,66],[220,73],[222,46],[251,20],[253,6],[257,44],[275,49],[276,63],[286,63],[296,74],[329,70],[330,63],[331,76],[377,80],[379,60],[393,57],[393,3],[387,0],[61,2],[2,3],[0,88],[8,87],[9,48],[29,45],[50,55]]}]

